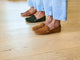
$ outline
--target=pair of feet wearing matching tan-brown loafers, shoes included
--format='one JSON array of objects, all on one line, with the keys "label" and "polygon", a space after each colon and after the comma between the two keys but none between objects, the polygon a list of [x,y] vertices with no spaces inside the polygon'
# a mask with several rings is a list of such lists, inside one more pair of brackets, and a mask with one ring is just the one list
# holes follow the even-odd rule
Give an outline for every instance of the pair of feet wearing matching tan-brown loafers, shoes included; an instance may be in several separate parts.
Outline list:
[{"label": "pair of feet wearing matching tan-brown loafers, shoes included", "polygon": [[59,20],[55,20],[52,16],[48,16],[44,23],[33,27],[32,30],[36,34],[57,33],[61,31],[61,25]]}]

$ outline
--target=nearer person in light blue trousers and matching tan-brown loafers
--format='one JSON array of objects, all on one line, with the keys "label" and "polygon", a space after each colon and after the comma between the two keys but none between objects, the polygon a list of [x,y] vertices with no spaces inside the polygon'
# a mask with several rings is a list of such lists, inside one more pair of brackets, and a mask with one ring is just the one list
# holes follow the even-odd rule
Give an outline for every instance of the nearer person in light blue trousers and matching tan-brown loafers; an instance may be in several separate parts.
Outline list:
[{"label": "nearer person in light blue trousers and matching tan-brown loafers", "polygon": [[43,0],[47,19],[32,28],[36,34],[61,32],[61,21],[67,20],[67,0]]}]

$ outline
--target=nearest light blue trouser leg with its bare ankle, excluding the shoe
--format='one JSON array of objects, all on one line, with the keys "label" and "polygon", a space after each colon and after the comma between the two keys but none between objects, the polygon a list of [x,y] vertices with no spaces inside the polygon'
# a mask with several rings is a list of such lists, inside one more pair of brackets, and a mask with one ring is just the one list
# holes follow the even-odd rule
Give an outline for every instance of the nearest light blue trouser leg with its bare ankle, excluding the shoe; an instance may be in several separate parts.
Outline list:
[{"label": "nearest light blue trouser leg with its bare ankle, excluding the shoe", "polygon": [[60,21],[67,19],[67,0],[52,0],[53,21],[48,25],[50,30],[60,26]]}]

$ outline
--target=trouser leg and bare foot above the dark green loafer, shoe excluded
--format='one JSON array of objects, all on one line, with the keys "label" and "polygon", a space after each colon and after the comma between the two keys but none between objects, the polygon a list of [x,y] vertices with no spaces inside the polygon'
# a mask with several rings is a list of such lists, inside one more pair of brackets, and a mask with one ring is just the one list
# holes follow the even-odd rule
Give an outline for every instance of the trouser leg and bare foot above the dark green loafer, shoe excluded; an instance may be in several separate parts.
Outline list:
[{"label": "trouser leg and bare foot above the dark green loafer, shoe excluded", "polygon": [[43,0],[36,0],[36,9],[37,12],[34,15],[37,19],[40,19],[45,16]]}]

